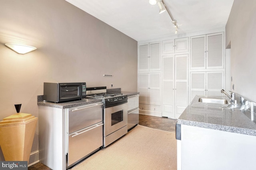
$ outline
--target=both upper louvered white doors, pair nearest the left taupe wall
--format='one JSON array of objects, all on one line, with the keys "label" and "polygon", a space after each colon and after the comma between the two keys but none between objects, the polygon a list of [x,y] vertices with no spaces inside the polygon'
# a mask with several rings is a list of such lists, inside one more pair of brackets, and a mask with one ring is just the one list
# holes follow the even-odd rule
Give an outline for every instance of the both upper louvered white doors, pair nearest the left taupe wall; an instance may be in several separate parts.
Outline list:
[{"label": "both upper louvered white doors, pair nearest the left taupe wall", "polygon": [[140,44],[139,71],[160,71],[160,42]]}]

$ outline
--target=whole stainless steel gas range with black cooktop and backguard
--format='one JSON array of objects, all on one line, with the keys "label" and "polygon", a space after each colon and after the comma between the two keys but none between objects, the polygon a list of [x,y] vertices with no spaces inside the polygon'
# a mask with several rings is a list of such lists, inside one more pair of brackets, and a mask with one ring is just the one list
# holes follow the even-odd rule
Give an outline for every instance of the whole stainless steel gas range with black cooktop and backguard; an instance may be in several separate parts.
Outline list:
[{"label": "whole stainless steel gas range with black cooktop and backguard", "polygon": [[106,86],[86,88],[86,98],[103,100],[103,147],[110,145],[127,133],[127,96],[107,93]]}]

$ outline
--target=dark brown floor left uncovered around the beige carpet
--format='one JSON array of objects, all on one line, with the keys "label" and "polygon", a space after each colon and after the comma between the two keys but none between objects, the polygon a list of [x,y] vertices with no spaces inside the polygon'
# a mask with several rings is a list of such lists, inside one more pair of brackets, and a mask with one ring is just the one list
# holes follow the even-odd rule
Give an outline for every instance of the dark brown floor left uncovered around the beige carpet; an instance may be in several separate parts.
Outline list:
[{"label": "dark brown floor left uncovered around the beige carpet", "polygon": [[[159,129],[163,131],[175,132],[175,125],[177,120],[167,117],[156,117],[150,115],[139,114],[139,125]],[[30,167],[28,170],[51,170],[44,164],[38,162]]]}]

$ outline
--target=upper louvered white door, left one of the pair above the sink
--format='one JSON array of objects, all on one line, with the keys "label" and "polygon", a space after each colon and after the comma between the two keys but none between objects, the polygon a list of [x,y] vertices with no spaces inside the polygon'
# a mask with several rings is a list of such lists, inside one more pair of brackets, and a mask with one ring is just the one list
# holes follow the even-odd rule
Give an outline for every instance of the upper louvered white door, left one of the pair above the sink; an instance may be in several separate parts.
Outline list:
[{"label": "upper louvered white door, left one of the pair above the sink", "polygon": [[206,68],[206,35],[191,37],[191,69]]}]

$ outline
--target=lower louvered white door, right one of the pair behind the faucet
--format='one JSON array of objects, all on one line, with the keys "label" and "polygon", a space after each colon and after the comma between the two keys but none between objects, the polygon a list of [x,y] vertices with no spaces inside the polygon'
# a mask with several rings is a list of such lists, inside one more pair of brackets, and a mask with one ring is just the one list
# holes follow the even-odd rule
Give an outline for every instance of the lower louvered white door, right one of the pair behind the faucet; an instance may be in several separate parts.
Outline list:
[{"label": "lower louvered white door, right one of the pair behind the faucet", "polygon": [[206,72],[206,95],[222,96],[224,72]]}]

